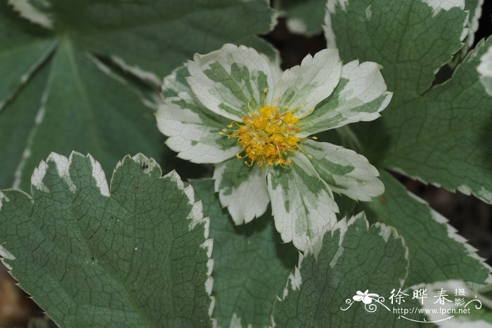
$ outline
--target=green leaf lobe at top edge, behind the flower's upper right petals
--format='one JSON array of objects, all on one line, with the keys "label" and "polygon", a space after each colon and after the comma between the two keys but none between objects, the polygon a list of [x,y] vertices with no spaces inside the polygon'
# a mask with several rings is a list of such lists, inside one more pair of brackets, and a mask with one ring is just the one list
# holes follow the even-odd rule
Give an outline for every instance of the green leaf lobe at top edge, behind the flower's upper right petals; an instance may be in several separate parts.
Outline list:
[{"label": "green leaf lobe at top edge, behind the flower's upper right petals", "polygon": [[345,61],[358,58],[382,65],[384,81],[394,92],[384,114],[394,112],[405,100],[427,91],[435,71],[461,48],[467,14],[452,6],[459,3],[330,0],[325,17],[328,46],[337,46]]}]

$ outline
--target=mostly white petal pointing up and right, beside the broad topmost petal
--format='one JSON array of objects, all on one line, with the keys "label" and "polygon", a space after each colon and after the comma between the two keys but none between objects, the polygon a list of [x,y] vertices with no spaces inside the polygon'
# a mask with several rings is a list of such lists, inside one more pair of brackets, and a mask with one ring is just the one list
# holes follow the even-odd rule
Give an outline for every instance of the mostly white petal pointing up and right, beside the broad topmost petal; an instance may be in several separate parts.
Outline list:
[{"label": "mostly white petal pointing up and right, beside the broad topmost petal", "polygon": [[342,61],[337,49],[324,49],[314,57],[306,55],[301,65],[285,70],[273,91],[273,101],[278,106],[287,105],[290,110],[301,107],[297,117],[304,117],[327,98],[337,86],[342,70]]}]

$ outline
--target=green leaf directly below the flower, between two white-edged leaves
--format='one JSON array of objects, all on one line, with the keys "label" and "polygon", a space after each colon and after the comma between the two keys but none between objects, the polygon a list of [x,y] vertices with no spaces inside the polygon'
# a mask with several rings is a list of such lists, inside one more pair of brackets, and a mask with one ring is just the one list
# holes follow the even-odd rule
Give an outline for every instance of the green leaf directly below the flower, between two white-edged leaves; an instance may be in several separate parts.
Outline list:
[{"label": "green leaf directly below the flower, between two white-edged leaves", "polygon": [[265,327],[276,295],[297,262],[292,244],[282,244],[265,214],[247,225],[235,225],[214,195],[214,181],[192,181],[196,199],[210,218],[214,239],[214,317],[221,327],[234,322],[242,327]]}]

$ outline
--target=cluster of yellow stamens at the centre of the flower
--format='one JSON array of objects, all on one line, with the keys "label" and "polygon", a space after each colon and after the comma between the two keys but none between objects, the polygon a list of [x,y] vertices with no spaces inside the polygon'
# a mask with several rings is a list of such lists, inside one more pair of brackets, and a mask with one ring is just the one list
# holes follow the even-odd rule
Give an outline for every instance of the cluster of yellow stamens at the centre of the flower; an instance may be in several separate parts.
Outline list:
[{"label": "cluster of yellow stamens at the centre of the flower", "polygon": [[299,138],[295,136],[300,131],[296,127],[297,117],[292,111],[280,111],[278,107],[264,105],[258,112],[242,117],[242,123],[233,122],[229,129],[220,132],[228,138],[238,138],[238,145],[242,147],[236,157],[247,158],[245,164],[252,166],[280,165],[290,166],[290,152],[296,151]]}]

